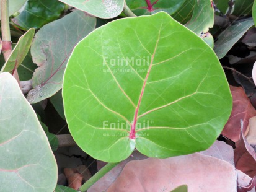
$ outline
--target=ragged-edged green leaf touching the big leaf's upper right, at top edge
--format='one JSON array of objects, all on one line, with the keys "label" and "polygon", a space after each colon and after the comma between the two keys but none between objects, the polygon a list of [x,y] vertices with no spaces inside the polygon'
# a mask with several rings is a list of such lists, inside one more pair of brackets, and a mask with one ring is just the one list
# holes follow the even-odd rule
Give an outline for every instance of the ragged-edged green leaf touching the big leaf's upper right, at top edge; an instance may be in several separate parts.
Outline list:
[{"label": "ragged-edged green leaf touching the big leaf's upper right, at top edge", "polygon": [[214,10],[211,0],[200,0],[195,4],[193,15],[186,27],[197,35],[207,33],[214,24]]}]

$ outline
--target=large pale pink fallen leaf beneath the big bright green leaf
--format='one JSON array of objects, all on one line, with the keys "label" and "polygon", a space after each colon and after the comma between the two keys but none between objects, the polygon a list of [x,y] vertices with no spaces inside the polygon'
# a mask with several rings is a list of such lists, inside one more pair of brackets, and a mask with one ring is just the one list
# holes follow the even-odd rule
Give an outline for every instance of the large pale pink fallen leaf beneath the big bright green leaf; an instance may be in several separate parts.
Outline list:
[{"label": "large pale pink fallen leaf beneath the big bright green leaf", "polygon": [[188,185],[188,191],[226,192],[236,191],[236,180],[231,164],[197,153],[128,162],[107,191],[170,191]]}]

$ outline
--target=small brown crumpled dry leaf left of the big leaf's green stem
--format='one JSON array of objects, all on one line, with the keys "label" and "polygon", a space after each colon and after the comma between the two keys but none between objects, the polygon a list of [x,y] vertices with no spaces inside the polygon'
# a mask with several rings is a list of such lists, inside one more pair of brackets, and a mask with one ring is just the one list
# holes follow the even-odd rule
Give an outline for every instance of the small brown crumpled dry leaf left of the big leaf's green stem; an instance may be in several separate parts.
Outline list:
[{"label": "small brown crumpled dry leaf left of the big leaf's green stem", "polygon": [[64,174],[70,188],[78,190],[81,187],[83,177],[76,168],[64,168]]}]

